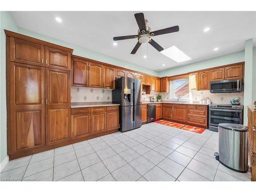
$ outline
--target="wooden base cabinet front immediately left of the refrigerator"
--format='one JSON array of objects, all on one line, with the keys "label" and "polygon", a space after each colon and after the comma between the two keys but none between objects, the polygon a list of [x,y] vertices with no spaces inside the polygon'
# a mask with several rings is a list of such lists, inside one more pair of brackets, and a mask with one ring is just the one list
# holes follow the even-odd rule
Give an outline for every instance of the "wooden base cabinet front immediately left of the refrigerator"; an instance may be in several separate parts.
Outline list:
[{"label": "wooden base cabinet front immediately left of the refrigerator", "polygon": [[106,131],[119,128],[119,106],[108,106],[106,113]]}]

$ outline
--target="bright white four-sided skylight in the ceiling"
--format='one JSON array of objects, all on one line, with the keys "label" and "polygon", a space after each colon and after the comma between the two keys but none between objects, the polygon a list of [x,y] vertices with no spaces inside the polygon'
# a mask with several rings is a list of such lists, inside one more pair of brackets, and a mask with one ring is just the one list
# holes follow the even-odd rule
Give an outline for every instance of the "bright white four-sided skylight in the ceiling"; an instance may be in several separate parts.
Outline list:
[{"label": "bright white four-sided skylight in the ceiling", "polygon": [[185,53],[179,50],[176,46],[169,47],[168,49],[165,49],[160,53],[162,53],[166,57],[169,57],[170,59],[175,60],[176,62],[183,62],[191,59],[189,56],[187,56]]}]

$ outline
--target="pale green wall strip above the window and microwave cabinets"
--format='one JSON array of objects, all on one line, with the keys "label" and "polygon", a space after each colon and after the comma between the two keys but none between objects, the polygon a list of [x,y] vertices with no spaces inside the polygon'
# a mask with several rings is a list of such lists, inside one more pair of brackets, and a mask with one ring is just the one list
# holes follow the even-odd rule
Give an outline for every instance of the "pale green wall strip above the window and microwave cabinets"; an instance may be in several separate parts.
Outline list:
[{"label": "pale green wall strip above the window and microwave cabinets", "polygon": [[218,66],[228,65],[231,63],[242,62],[242,61],[244,61],[244,51],[231,53],[231,54],[223,55],[220,57],[215,57],[215,58],[211,58],[211,59],[207,59],[199,62],[190,63],[185,66],[161,71],[159,72],[159,76],[164,77],[164,76],[179,75],[179,74],[188,73],[191,71],[218,67]]}]

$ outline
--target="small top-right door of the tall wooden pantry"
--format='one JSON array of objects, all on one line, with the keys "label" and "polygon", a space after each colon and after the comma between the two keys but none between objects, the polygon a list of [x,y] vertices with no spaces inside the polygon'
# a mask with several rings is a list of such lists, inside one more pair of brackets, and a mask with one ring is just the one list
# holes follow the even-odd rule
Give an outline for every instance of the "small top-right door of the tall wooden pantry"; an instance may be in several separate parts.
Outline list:
[{"label": "small top-right door of the tall wooden pantry", "polygon": [[59,49],[45,47],[45,66],[49,68],[71,69],[71,53]]}]

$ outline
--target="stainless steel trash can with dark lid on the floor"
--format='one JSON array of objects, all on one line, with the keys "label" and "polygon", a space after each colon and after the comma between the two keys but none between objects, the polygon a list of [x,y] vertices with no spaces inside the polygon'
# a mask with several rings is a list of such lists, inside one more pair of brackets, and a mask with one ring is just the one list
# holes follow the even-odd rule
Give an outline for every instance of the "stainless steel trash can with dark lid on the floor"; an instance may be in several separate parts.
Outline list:
[{"label": "stainless steel trash can with dark lid on the floor", "polygon": [[248,170],[248,127],[235,123],[219,124],[219,161],[237,172]]}]

